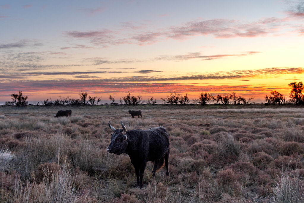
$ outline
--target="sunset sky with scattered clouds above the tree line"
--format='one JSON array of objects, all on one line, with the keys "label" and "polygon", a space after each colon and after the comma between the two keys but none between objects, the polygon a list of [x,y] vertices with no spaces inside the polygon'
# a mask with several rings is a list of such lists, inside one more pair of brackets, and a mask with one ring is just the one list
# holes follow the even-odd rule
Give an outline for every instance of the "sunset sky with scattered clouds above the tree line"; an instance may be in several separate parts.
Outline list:
[{"label": "sunset sky with scattered clouds above the tree line", "polygon": [[236,92],[304,82],[304,1],[0,2],[0,103]]}]

